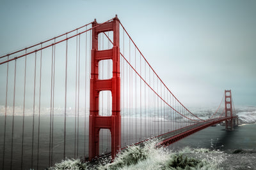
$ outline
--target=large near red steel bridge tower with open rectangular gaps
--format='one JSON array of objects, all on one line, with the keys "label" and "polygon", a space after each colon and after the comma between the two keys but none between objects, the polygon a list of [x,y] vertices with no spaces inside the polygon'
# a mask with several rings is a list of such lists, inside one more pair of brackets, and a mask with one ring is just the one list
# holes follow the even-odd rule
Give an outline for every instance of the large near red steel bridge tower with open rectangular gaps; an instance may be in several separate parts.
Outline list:
[{"label": "large near red steel bridge tower with open rectangular gaps", "polygon": [[[99,25],[96,20],[92,23],[92,71],[90,82],[90,120],[89,120],[89,160],[99,157],[99,131],[109,129],[111,132],[111,156],[115,157],[121,146],[121,117],[120,117],[120,47],[119,20]],[[113,31],[113,48],[98,50],[98,35],[100,32]],[[99,61],[113,60],[113,77],[109,80],[99,80]],[[112,94],[112,115],[99,115],[99,93],[110,90]]]}]

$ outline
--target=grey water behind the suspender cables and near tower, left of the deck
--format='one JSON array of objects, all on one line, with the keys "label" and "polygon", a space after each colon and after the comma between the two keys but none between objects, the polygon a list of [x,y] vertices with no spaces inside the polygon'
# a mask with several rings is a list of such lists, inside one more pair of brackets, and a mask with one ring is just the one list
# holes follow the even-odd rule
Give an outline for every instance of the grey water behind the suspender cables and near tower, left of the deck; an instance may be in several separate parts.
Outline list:
[{"label": "grey water behind the suspender cables and near tower, left of the deck", "polygon": [[[4,146],[4,116],[0,116],[0,169],[44,169],[50,167],[56,162],[61,162],[64,151],[64,141],[66,141],[65,157],[71,159],[88,157],[88,117],[79,117],[79,136],[77,149],[77,128],[75,128],[75,117],[67,117],[66,140],[64,140],[64,117],[54,117],[53,130],[51,118],[40,117],[40,135],[38,136],[38,116],[24,117],[24,141],[22,155],[22,122],[23,117],[15,116],[14,122],[12,116],[6,117],[6,137]],[[84,124],[85,122],[85,124]],[[136,125],[137,123],[137,125]],[[140,125],[141,124],[141,125]],[[172,122],[171,122],[172,124]],[[13,128],[12,128],[13,125]],[[76,121],[76,127],[78,121]],[[84,126],[85,125],[85,126]],[[151,136],[157,136],[164,132],[173,131],[175,128],[189,125],[187,122],[175,122],[175,126],[170,122],[157,118],[122,118],[122,139],[121,148],[132,143],[137,143]],[[151,127],[149,130],[148,127]],[[13,129],[13,134],[12,134]],[[34,133],[33,133],[34,131]],[[53,139],[51,133],[53,132]],[[13,136],[13,137],[12,137]],[[38,138],[39,137],[39,138]],[[12,141],[13,138],[13,141]],[[99,133],[99,153],[111,152],[111,135],[108,129],[101,129]],[[50,142],[53,141],[53,143]],[[51,152],[52,147],[52,152]]]}]

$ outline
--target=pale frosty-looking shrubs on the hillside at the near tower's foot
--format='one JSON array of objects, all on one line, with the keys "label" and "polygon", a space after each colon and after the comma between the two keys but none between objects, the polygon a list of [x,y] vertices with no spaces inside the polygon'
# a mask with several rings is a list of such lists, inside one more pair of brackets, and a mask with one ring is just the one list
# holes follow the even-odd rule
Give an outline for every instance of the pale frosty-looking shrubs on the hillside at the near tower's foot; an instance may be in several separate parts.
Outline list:
[{"label": "pale frosty-looking shrubs on the hillside at the near tower's foot", "polygon": [[113,162],[102,159],[92,166],[91,162],[84,163],[79,159],[63,160],[50,169],[221,169],[220,163],[227,159],[227,153],[205,148],[185,147],[179,152],[172,152],[164,147],[156,147],[158,142],[152,139],[144,146],[128,146],[116,155]]}]

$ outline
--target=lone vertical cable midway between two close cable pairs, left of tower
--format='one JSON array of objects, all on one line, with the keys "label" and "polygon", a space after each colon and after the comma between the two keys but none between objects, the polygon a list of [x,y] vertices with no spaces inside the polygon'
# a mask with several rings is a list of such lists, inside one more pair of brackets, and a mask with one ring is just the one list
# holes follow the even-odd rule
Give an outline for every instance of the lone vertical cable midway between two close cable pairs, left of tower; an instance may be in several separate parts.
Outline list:
[{"label": "lone vertical cable midway between two close cable pairs, left of tower", "polygon": [[[68,37],[68,34],[66,34]],[[64,107],[64,151],[63,159],[66,157],[66,121],[67,121],[67,67],[68,67],[68,39],[66,40],[66,66],[65,66],[65,107]]]}]

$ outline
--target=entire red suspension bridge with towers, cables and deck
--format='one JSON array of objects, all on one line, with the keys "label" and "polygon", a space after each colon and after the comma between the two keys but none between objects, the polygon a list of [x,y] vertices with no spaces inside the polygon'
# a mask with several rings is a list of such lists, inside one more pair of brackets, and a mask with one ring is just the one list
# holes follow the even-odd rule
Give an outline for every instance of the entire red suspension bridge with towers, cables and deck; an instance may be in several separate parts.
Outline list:
[{"label": "entire red suspension bridge with towers, cables and deck", "polygon": [[148,139],[167,146],[211,125],[238,124],[231,90],[209,118],[180,103],[117,16],[3,55],[0,69],[1,169],[114,158]]}]

